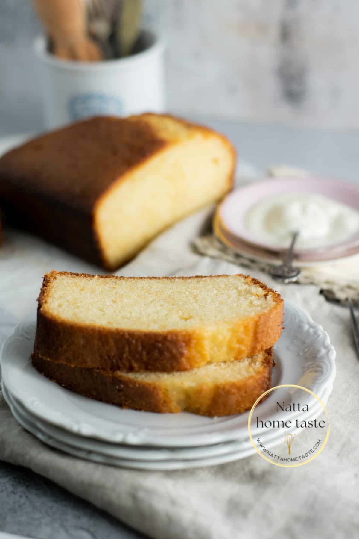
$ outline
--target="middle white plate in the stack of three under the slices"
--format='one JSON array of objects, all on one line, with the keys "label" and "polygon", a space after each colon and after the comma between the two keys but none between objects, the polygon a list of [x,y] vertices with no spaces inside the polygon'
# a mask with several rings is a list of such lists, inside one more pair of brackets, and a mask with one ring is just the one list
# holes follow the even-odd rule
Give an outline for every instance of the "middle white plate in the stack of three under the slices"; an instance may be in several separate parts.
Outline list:
[{"label": "middle white plate in the stack of three under the slices", "polygon": [[[120,459],[129,459],[137,461],[158,461],[158,460],[194,460],[208,457],[215,457],[234,451],[243,451],[250,448],[251,443],[249,437],[247,440],[242,441],[228,441],[222,444],[208,445],[202,447],[147,447],[147,446],[124,446],[121,444],[111,444],[102,440],[95,440],[93,438],[85,438],[83,436],[76,436],[71,432],[59,429],[51,425],[47,421],[43,421],[36,416],[33,416],[27,411],[21,403],[19,403],[13,396],[10,395],[6,386],[3,383],[3,393],[6,402],[8,402],[13,414],[23,426],[32,427],[32,432],[39,432],[41,436],[48,436],[54,440],[58,440],[61,443],[70,445],[81,450],[95,452],[104,455],[104,457],[114,457]],[[328,397],[325,396],[327,399]],[[301,419],[311,419],[319,417],[322,413],[321,405],[317,402],[316,406],[313,406],[310,413],[301,413]],[[37,436],[37,434],[36,434]],[[276,431],[269,431],[262,435],[262,441],[267,446],[271,442],[279,440],[281,434]]]}]

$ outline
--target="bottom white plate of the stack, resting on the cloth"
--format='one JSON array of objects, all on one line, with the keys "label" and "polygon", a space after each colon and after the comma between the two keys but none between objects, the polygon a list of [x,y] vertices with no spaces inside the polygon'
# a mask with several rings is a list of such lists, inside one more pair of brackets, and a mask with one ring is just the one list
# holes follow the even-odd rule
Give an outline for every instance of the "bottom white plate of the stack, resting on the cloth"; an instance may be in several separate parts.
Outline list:
[{"label": "bottom white plate of the stack, resting on the cloth", "polygon": [[[327,395],[323,397],[325,400],[328,399],[330,391],[327,391]],[[110,466],[117,466],[117,467],[125,467],[125,468],[136,468],[136,469],[151,469],[151,470],[170,470],[170,469],[185,469],[185,468],[194,468],[194,467],[203,467],[203,466],[214,466],[216,464],[224,464],[225,462],[231,462],[234,460],[243,459],[245,457],[249,457],[249,455],[255,454],[256,450],[251,445],[249,438],[245,443],[240,442],[228,442],[219,444],[216,446],[209,446],[209,447],[216,447],[221,448],[225,446],[230,446],[230,449],[227,451],[217,451],[213,455],[209,455],[208,457],[198,457],[195,459],[189,459],[189,458],[182,458],[180,454],[174,454],[172,458],[168,458],[165,460],[140,460],[140,459],[127,459],[127,458],[119,458],[116,456],[112,456],[110,454],[103,454],[96,452],[93,450],[93,448],[88,448],[88,444],[94,442],[94,440],[86,439],[83,437],[79,437],[79,446],[73,446],[71,444],[67,444],[65,441],[61,440],[61,438],[52,437],[43,429],[41,429],[40,425],[43,424],[43,422],[39,420],[36,420],[29,412],[26,411],[26,409],[22,408],[21,405],[18,405],[16,403],[16,400],[13,399],[8,391],[6,390],[6,386],[3,384],[3,394],[5,397],[6,402],[8,402],[11,411],[13,413],[13,416],[17,419],[18,423],[24,427],[27,431],[31,432],[36,436],[39,440],[43,441],[45,444],[50,445],[62,452],[71,454],[75,457],[79,457],[86,460],[91,460],[94,462],[100,462],[101,464],[106,464]],[[322,413],[321,406],[319,405],[316,410],[312,411],[312,413],[308,414],[306,417],[307,420],[314,419],[318,417]],[[35,419],[35,421],[33,421]],[[293,433],[298,432],[300,429],[295,429]],[[273,434],[268,433],[265,437],[262,437],[263,442],[265,443],[266,447],[274,447],[281,441],[281,434],[278,435],[278,433]],[[84,448],[87,444],[87,448]],[[111,444],[108,444],[111,445]],[[82,447],[83,446],[83,447]],[[237,447],[237,448],[235,448]],[[203,448],[196,448],[196,449],[203,449],[206,451],[206,447]],[[138,448],[131,448],[130,450],[138,450]],[[162,450],[157,448],[157,451],[160,453]],[[166,450],[163,450],[166,451]],[[181,450],[172,450],[180,452]]]}]

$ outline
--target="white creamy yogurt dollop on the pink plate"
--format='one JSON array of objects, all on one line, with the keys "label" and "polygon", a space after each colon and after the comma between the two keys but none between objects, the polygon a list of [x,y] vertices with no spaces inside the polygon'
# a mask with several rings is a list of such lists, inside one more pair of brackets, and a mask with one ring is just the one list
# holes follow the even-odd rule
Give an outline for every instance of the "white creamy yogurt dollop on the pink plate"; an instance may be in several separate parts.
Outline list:
[{"label": "white creamy yogurt dollop on the pink plate", "polygon": [[291,192],[251,206],[245,226],[273,246],[287,246],[293,231],[298,230],[297,248],[325,248],[359,231],[359,211],[324,195]]}]

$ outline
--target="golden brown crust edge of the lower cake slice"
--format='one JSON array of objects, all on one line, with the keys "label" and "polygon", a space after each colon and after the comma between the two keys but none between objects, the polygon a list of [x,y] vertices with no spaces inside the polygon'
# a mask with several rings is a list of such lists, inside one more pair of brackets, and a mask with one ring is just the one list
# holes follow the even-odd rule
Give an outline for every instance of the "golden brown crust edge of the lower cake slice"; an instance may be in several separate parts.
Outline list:
[{"label": "golden brown crust edge of the lower cake slice", "polygon": [[203,416],[227,416],[249,410],[271,387],[273,349],[265,353],[261,369],[242,381],[196,385],[186,402],[160,383],[130,379],[102,369],[70,367],[32,354],[34,367],[47,378],[86,397],[147,412],[188,411]]}]

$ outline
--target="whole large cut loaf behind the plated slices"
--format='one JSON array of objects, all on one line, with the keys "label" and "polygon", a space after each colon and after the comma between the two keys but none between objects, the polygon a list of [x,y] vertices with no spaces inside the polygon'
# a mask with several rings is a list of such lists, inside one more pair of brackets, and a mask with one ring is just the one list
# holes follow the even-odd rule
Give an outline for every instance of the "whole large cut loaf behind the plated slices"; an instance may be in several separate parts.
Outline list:
[{"label": "whole large cut loaf behind the plated slices", "polygon": [[0,205],[15,223],[113,270],[233,184],[226,137],[172,116],[100,117],[0,159]]}]

